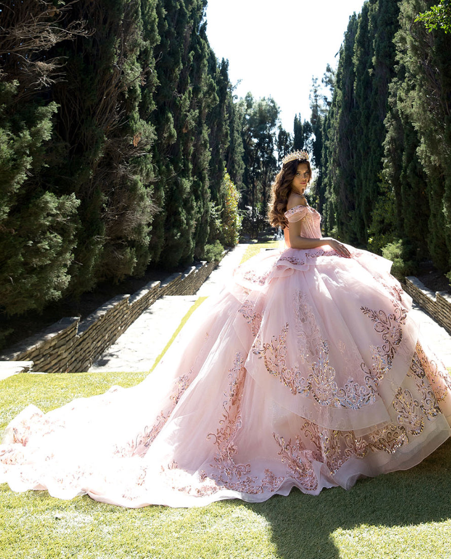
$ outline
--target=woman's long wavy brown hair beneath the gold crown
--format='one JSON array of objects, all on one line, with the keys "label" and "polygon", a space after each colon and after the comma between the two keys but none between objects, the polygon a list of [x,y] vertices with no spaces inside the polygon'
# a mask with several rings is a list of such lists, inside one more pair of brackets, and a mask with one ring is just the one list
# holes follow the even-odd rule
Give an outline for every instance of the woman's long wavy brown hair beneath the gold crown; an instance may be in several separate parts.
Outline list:
[{"label": "woman's long wavy brown hair beneath the gold crown", "polygon": [[305,163],[308,167],[308,181],[312,179],[312,168],[307,159],[294,159],[285,163],[276,175],[273,186],[271,186],[271,200],[268,205],[268,221],[273,227],[285,229],[288,220],[285,217],[288,196],[292,191],[292,182],[298,170],[299,163]]}]

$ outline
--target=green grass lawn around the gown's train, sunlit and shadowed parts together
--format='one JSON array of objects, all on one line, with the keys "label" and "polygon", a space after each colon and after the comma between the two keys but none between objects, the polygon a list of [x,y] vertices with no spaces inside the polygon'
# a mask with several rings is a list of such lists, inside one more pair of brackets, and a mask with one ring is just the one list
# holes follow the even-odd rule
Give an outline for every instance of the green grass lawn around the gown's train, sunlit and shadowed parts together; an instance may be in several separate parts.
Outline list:
[{"label": "green grass lawn around the gown's train, sunlit and shadowed parts together", "polygon": [[[263,245],[251,245],[259,252]],[[255,250],[256,249],[256,250]],[[200,303],[198,303],[200,304]],[[16,375],[0,381],[0,430],[27,404],[132,386],[147,373]],[[419,466],[319,496],[124,509],[0,485],[0,559],[451,559],[451,440]]]}]

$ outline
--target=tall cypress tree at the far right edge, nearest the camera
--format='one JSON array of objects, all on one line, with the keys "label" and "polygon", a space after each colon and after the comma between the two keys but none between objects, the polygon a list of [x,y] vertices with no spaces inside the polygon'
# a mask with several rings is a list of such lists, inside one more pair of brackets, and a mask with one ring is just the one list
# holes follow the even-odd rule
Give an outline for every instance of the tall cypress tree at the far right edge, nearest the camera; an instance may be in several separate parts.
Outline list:
[{"label": "tall cypress tree at the far right edge, nearest the camera", "polygon": [[[424,199],[417,195],[423,184],[430,211],[427,247],[435,265],[448,271],[451,267],[451,117],[448,108],[451,37],[443,29],[429,33],[420,21],[414,22],[417,14],[429,6],[430,2],[423,0],[401,4],[401,29],[396,45],[398,61],[405,67],[406,76],[403,87],[399,88],[398,107],[410,123],[405,127],[407,131],[411,126],[418,135],[416,153],[420,168],[425,172],[416,183],[411,181],[415,190],[409,211],[411,225],[407,226],[413,228],[415,214],[411,208],[415,199],[417,203]],[[415,169],[411,170],[411,176],[417,177],[417,174]],[[421,243],[421,239],[418,241]]]}]

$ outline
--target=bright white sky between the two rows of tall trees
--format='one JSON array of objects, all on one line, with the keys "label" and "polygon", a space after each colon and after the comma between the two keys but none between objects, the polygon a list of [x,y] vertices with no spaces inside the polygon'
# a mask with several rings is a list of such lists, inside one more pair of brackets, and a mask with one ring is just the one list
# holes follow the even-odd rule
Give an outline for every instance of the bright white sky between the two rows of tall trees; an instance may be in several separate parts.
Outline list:
[{"label": "bright white sky between the two rows of tall trees", "polygon": [[336,68],[349,16],[364,0],[208,0],[207,35],[217,58],[229,60],[235,93],[273,97],[285,130],[309,119],[312,76]]}]

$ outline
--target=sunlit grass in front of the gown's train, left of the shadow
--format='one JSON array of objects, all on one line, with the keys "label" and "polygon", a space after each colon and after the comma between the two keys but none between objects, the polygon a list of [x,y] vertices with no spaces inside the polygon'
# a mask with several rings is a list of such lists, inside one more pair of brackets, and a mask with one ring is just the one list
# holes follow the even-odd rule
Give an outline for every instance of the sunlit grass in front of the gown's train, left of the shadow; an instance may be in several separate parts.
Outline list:
[{"label": "sunlit grass in front of the gown's train, left of the shadow", "polygon": [[72,501],[44,492],[16,496],[0,488],[2,559],[276,558],[265,518],[242,504],[123,509],[87,497]]}]

